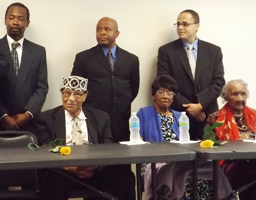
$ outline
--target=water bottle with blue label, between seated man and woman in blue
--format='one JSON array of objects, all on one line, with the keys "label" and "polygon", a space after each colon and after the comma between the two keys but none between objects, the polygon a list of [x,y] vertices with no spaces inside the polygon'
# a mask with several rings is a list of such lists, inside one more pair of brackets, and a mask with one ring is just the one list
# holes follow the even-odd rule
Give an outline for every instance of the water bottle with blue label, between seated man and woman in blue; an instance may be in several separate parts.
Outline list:
[{"label": "water bottle with blue label, between seated man and woman in blue", "polygon": [[136,142],[140,141],[141,137],[139,135],[139,118],[136,115],[136,112],[131,113],[131,117],[129,119],[130,126],[130,141]]}]

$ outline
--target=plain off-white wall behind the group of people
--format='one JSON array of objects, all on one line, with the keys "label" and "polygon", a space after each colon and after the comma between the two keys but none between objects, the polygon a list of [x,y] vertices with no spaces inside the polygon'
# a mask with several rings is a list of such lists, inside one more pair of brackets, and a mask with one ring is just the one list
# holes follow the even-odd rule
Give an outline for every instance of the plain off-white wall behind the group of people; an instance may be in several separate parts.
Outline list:
[{"label": "plain off-white wall behind the group of people", "polygon": [[[14,1],[15,2],[15,1]],[[1,0],[0,37],[6,34],[5,10],[13,3]],[[256,2],[254,0],[21,0],[29,8],[25,38],[46,48],[49,93],[42,110],[62,104],[62,76],[70,75],[76,53],[97,44],[97,21],[109,16],[118,22],[117,44],[136,54],[141,84],[132,112],[152,104],[151,83],[156,76],[158,48],[177,39],[178,14],[198,12],[198,37],[222,48],[226,81],[244,79],[250,90],[247,105],[256,108]],[[102,91],[104,92],[104,91]],[[222,106],[222,104],[220,104]]]}]

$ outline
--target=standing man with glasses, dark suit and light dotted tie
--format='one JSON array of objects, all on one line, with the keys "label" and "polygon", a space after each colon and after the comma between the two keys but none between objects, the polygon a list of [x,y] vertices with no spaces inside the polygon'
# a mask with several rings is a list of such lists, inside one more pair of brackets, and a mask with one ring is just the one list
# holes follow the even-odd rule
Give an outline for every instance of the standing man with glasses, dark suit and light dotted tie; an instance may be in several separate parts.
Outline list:
[{"label": "standing man with glasses, dark suit and light dotted tie", "polygon": [[202,139],[205,120],[219,109],[217,98],[225,85],[222,52],[219,46],[196,36],[199,16],[195,11],[182,11],[174,26],[179,39],[159,48],[157,75],[169,74],[175,78],[178,94],[171,107],[186,111],[190,138]]}]

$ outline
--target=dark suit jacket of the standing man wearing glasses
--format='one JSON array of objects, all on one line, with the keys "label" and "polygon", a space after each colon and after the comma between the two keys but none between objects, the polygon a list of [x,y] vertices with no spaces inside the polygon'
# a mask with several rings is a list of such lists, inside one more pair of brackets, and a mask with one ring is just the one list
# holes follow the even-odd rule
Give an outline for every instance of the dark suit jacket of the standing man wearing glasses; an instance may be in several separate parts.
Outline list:
[{"label": "dark suit jacket of the standing man wearing glasses", "polygon": [[222,52],[219,46],[198,39],[195,80],[184,45],[180,39],[161,46],[158,51],[157,75],[171,75],[178,83],[171,108],[185,111],[182,104],[198,103],[206,115],[219,109],[217,98],[225,85]]}]

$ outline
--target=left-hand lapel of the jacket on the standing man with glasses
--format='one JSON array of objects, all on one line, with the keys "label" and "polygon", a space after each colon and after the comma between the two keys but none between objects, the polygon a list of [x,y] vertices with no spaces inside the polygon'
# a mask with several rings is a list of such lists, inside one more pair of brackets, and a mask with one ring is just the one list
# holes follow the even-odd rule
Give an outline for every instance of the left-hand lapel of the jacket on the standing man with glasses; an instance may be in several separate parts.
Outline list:
[{"label": "left-hand lapel of the jacket on the standing man with glasses", "polygon": [[[175,51],[178,55],[178,58],[180,59],[182,66],[190,76],[191,80],[194,82],[192,71],[190,68],[190,63],[188,61],[188,56],[186,54],[186,50],[184,49],[184,45],[180,39],[178,40],[178,45],[177,45],[177,48],[175,48]],[[196,63],[196,67],[197,67],[197,63]]]}]

